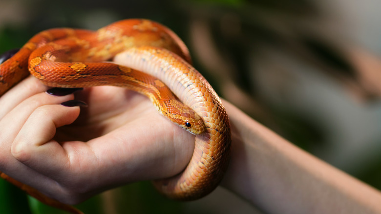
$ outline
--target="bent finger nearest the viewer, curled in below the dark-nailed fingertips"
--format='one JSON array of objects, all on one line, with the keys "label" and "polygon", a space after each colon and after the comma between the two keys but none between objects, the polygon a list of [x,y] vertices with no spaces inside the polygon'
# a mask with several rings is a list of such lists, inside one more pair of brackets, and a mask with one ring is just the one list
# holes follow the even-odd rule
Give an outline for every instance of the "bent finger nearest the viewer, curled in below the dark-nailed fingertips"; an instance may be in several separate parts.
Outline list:
[{"label": "bent finger nearest the viewer, curled in below the dark-nailed fingertips", "polygon": [[11,148],[12,155],[26,166],[48,177],[67,169],[67,153],[52,139],[56,128],[74,122],[79,112],[79,107],[63,105],[38,107],[16,136]]}]

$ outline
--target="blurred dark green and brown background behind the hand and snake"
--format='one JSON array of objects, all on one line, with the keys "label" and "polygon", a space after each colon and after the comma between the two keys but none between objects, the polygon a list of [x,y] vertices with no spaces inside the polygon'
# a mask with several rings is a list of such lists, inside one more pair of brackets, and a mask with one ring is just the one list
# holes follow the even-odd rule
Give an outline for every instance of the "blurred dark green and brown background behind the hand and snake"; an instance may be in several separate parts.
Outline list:
[{"label": "blurred dark green and brown background behind the hand and snake", "polygon": [[[381,189],[381,26],[372,0],[1,0],[0,52],[53,27],[147,18],[175,31],[217,93],[328,163]],[[149,182],[78,205],[85,213],[261,213],[218,188],[175,202]],[[239,209],[236,209],[239,207]],[[0,181],[1,214],[59,213]]]}]

